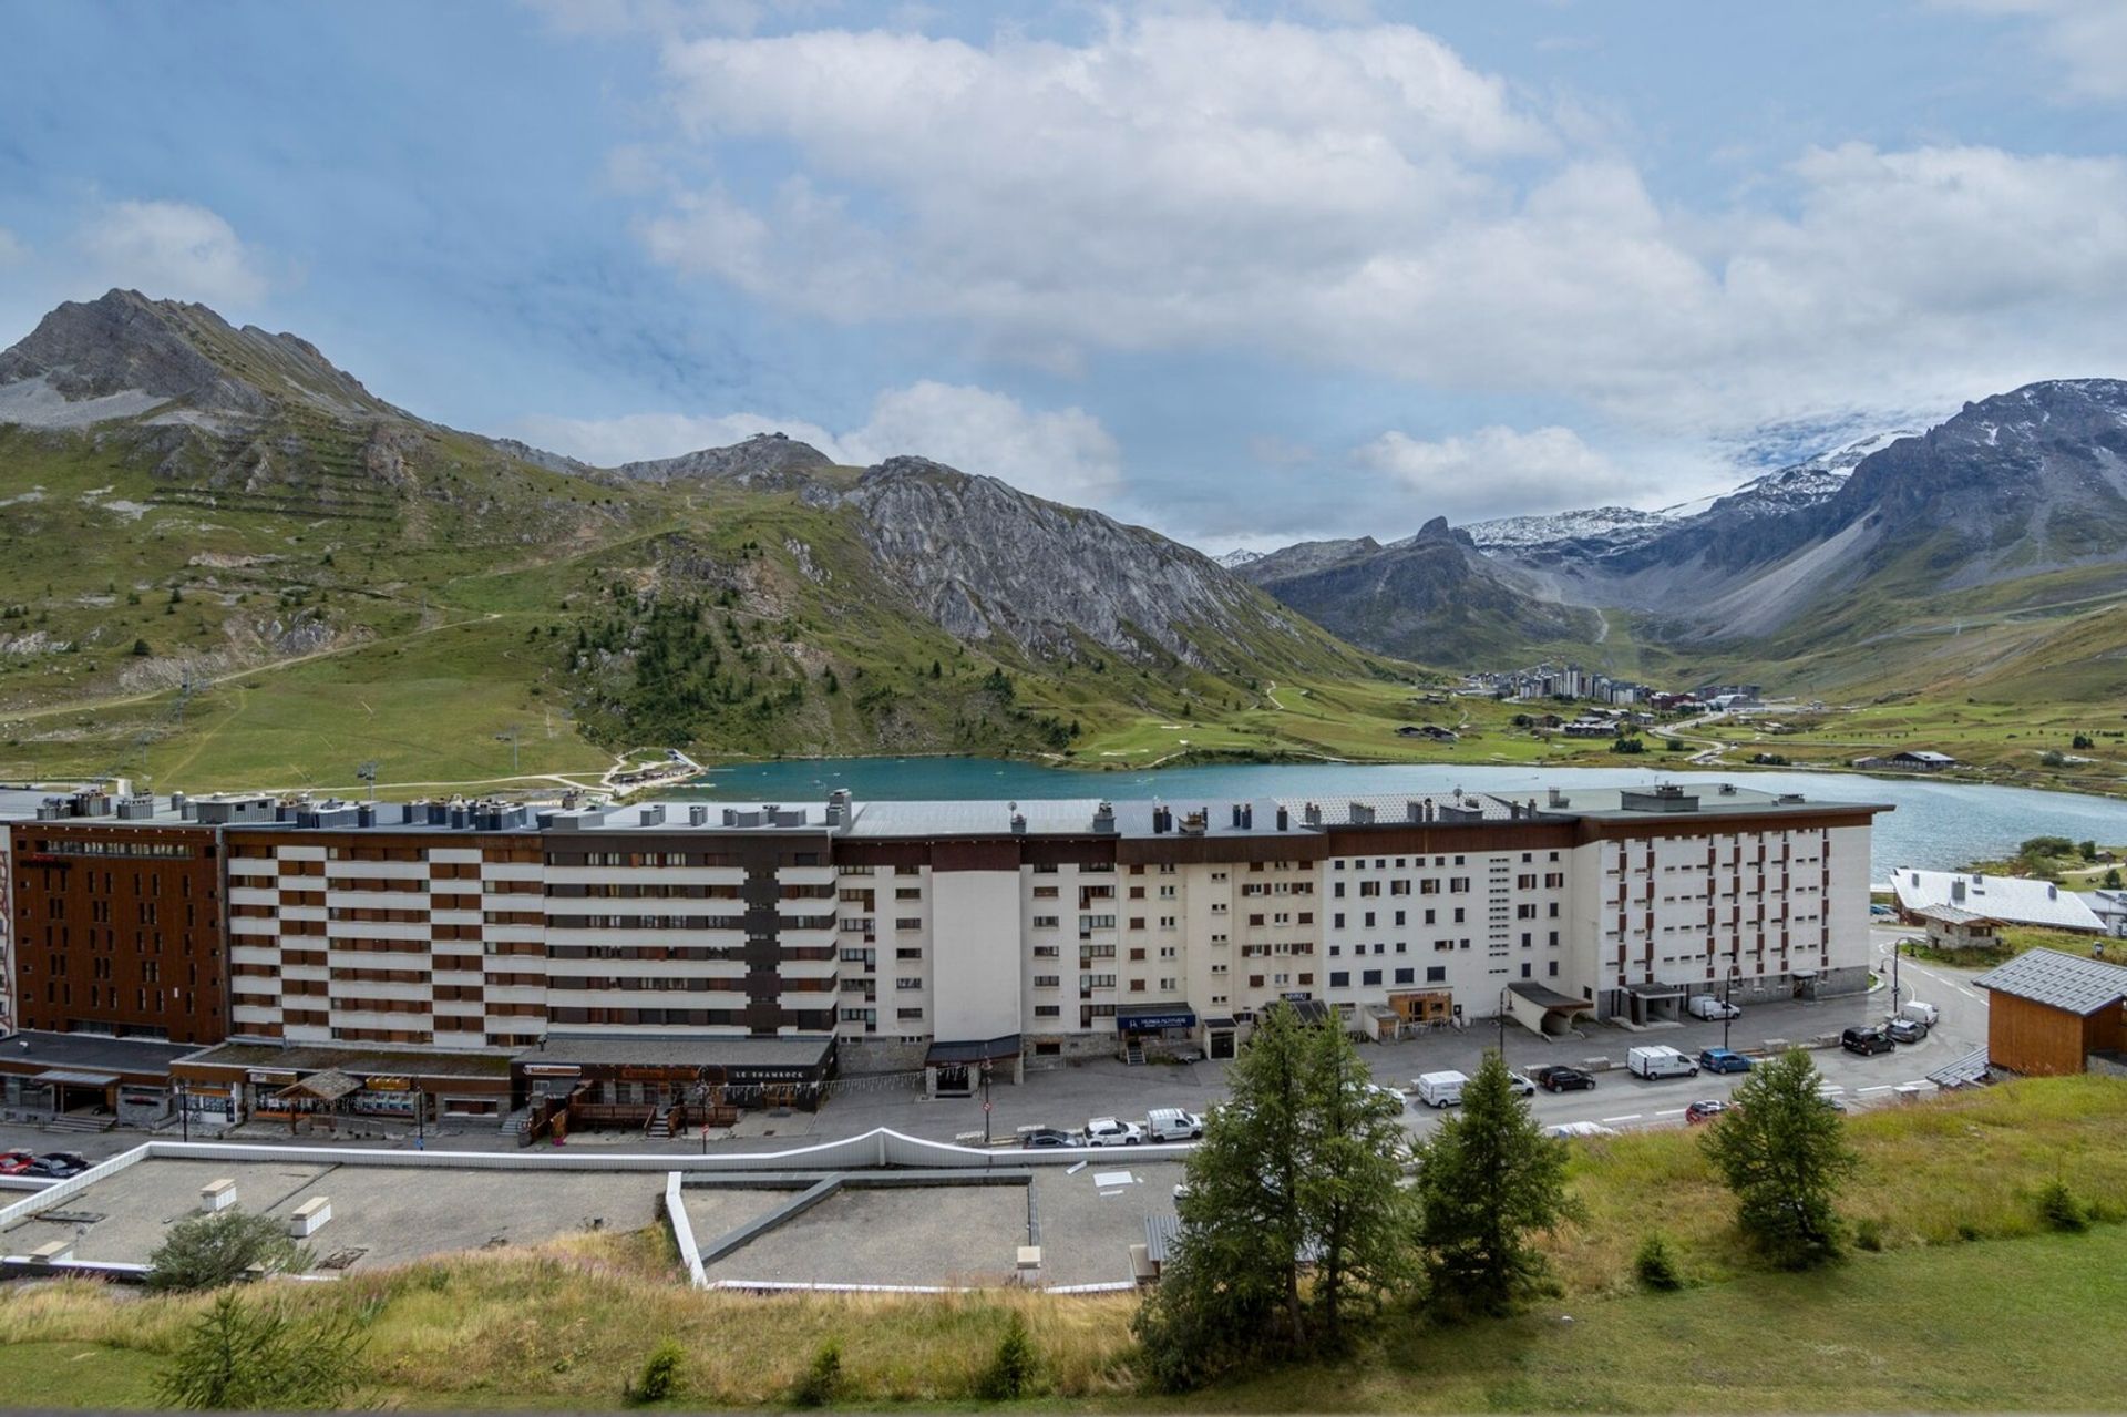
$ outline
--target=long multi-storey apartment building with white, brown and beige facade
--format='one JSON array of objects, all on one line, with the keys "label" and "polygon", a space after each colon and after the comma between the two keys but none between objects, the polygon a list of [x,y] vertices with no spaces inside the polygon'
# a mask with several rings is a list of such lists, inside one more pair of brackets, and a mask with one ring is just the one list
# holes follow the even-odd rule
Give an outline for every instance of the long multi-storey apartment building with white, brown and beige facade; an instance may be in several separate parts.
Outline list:
[{"label": "long multi-storey apartment building with white, brown and beige facade", "polygon": [[[1744,787],[1159,802],[77,794],[11,828],[23,1026],[430,1051],[832,1038],[844,1070],[1674,1017],[1868,983],[1880,806]],[[225,900],[225,921],[223,915]],[[225,949],[223,949],[225,947]],[[225,955],[225,968],[223,968]]]}]

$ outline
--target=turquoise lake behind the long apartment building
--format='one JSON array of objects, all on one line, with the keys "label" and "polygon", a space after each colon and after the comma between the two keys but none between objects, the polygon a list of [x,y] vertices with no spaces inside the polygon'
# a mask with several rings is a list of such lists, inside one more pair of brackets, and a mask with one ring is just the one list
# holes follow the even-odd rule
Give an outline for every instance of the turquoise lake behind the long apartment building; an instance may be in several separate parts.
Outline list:
[{"label": "turquoise lake behind the long apartment building", "polygon": [[1761,791],[1799,791],[1823,802],[1885,802],[1876,817],[1874,866],[1953,870],[2014,851],[2027,836],[2095,838],[2127,845],[2127,802],[2027,787],[1982,787],[1929,779],[1833,772],[1648,772],[1640,768],[1512,766],[1346,766],[1229,764],[1208,768],[1081,772],[991,757],[804,757],[713,768],[693,794],[727,802],[808,802],[836,787],[859,800],[923,798],[1161,798],[1176,806],[1240,798],[1334,798],[1338,794],[1468,791],[1527,794],[1587,783],[1738,783]]}]

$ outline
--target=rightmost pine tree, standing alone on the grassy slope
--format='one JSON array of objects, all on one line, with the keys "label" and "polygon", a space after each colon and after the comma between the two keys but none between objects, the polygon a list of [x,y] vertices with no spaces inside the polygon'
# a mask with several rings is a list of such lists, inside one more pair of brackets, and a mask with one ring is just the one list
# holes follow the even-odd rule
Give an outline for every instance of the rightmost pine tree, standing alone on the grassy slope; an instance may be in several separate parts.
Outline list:
[{"label": "rightmost pine tree, standing alone on the grassy slope", "polygon": [[1789,1049],[1744,1079],[1702,1143],[1736,1191],[1736,1223],[1791,1268],[1838,1253],[1833,1200],[1861,1164],[1821,1081],[1810,1055]]}]

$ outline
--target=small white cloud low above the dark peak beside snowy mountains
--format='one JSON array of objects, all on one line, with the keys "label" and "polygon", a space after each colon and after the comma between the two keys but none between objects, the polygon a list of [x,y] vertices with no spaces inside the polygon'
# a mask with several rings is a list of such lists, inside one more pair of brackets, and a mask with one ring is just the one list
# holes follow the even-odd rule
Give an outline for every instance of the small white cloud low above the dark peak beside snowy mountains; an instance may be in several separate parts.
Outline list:
[{"label": "small white cloud low above the dark peak beside snowy mountains", "polygon": [[1570,428],[1491,426],[1434,443],[1391,430],[1355,449],[1353,462],[1395,479],[1423,515],[1457,523],[1629,502],[1648,491]]}]

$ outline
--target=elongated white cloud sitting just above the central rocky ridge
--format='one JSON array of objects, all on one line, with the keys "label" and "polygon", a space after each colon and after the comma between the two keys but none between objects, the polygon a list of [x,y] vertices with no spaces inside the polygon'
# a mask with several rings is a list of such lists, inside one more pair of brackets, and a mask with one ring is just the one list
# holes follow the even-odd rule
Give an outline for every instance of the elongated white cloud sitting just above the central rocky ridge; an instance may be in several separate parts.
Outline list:
[{"label": "elongated white cloud sitting just above the central rocky ridge", "polygon": [[519,421],[527,443],[596,466],[727,447],[759,432],[785,432],[851,466],[902,453],[932,457],[1064,502],[1098,502],[1123,483],[1115,438],[1083,409],[1029,411],[1006,394],[929,379],[883,391],[864,426],[842,434],[757,413],[536,415]]}]

